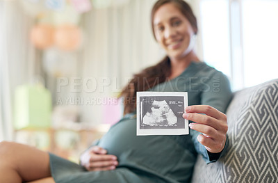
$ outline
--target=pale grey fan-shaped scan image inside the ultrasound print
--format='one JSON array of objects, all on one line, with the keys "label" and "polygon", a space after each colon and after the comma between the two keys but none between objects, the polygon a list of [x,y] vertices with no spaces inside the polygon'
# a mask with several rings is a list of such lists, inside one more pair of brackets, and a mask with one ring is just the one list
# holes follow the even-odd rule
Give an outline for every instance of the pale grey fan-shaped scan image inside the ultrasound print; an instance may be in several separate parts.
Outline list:
[{"label": "pale grey fan-shaped scan image inside the ultrasound print", "polygon": [[150,111],[143,117],[143,122],[149,126],[168,126],[177,124],[177,116],[165,100],[152,102]]}]

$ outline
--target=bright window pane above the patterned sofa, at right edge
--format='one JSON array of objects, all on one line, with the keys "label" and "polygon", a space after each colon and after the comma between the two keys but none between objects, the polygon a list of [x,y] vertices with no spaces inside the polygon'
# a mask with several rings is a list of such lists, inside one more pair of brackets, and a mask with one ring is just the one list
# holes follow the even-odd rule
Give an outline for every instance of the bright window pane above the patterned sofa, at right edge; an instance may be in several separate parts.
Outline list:
[{"label": "bright window pane above the patterned sofa, at right edge", "polygon": [[278,1],[243,1],[245,86],[278,78]]}]

